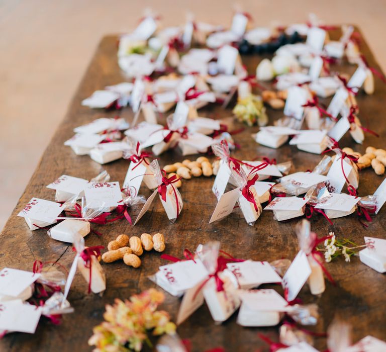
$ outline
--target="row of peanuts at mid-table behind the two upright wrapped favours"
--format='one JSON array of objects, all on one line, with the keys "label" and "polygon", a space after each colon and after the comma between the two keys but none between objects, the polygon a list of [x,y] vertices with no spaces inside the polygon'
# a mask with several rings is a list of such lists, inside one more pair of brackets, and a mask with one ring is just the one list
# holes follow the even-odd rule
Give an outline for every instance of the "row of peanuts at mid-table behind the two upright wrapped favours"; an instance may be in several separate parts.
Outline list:
[{"label": "row of peanuts at mid-table behind the two upright wrapped favours", "polygon": [[[200,177],[201,175],[204,175],[206,177],[211,177],[213,175],[212,164],[205,156],[198,157],[196,161],[190,161],[189,159],[186,159],[182,162],[175,162],[171,165],[165,165],[163,169],[168,173],[168,178],[175,174],[185,180],[191,179],[192,176]],[[182,185],[181,180],[176,182],[174,185],[175,187],[179,188]]]}]

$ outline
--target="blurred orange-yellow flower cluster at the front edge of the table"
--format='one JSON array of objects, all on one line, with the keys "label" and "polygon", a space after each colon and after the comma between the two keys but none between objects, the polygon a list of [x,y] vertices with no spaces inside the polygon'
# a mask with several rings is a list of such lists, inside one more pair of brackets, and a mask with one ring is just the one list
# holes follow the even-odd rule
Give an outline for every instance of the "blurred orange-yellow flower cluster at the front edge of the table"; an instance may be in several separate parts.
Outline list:
[{"label": "blurred orange-yellow flower cluster at the front edge of the table", "polygon": [[174,334],[176,326],[169,314],[157,311],[163,300],[163,293],[155,289],[134,295],[125,302],[116,299],[114,305],[106,306],[106,321],[92,329],[88,344],[96,346],[94,352],[140,351],[143,342],[151,346],[148,330],[153,330],[153,335]]}]

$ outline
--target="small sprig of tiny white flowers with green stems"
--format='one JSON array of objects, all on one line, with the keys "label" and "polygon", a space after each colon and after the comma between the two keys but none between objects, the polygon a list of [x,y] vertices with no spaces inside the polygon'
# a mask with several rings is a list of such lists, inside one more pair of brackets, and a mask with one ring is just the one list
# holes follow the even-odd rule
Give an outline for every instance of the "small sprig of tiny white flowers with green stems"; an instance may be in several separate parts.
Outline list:
[{"label": "small sprig of tiny white flowers with green stems", "polygon": [[[317,250],[324,252],[324,258],[326,262],[330,262],[332,259],[343,255],[345,261],[349,262],[351,256],[355,255],[359,248],[363,248],[366,245],[358,245],[347,238],[342,240],[336,239],[335,233],[329,233],[330,238],[324,241],[325,248],[317,248]],[[348,246],[351,245],[351,246]]]}]

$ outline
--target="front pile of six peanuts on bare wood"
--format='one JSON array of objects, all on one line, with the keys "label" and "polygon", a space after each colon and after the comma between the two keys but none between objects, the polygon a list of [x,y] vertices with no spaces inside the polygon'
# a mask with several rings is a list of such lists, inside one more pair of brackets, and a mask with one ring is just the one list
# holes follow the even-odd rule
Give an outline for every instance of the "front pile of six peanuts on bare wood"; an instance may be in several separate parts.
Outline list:
[{"label": "front pile of six peanuts on bare wood", "polygon": [[157,252],[163,252],[165,250],[165,239],[162,233],[156,233],[149,235],[143,233],[141,238],[128,235],[119,235],[117,239],[109,242],[108,252],[102,254],[102,260],[105,263],[111,263],[113,261],[123,259],[124,263],[133,268],[139,268],[141,266],[141,259],[139,258],[143,250],[156,250]]}]

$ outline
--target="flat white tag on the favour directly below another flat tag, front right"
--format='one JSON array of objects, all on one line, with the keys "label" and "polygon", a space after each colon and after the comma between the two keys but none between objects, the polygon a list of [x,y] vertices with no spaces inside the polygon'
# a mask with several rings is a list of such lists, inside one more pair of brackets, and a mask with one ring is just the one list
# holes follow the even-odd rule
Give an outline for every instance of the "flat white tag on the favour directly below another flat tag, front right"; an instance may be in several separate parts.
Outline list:
[{"label": "flat white tag on the favour directly below another flat tag, front right", "polygon": [[248,290],[240,294],[243,304],[254,311],[285,312],[288,310],[287,301],[275,290]]}]

